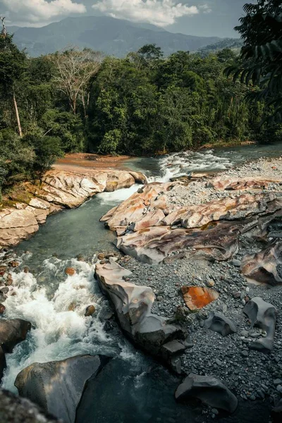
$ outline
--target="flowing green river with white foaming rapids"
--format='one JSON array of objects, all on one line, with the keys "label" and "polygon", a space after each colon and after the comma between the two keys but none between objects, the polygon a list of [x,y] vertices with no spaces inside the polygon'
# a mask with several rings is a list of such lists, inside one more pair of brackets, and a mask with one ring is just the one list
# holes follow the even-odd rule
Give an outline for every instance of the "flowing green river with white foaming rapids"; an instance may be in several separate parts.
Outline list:
[{"label": "flowing green river with white foaming rapids", "polygon": [[[190,171],[220,171],[259,157],[277,157],[279,145],[211,149],[171,154],[161,159],[137,158],[125,162],[143,171],[149,180],[168,181]],[[33,362],[63,360],[81,354],[111,355],[113,360],[87,385],[76,423],[201,422],[199,410],[175,403],[180,379],[147,357],[116,332],[107,331],[103,315],[109,304],[93,278],[95,255],[114,251],[114,233],[99,219],[128,198],[139,185],[102,193],[78,209],[49,217],[36,235],[21,243],[14,254],[20,271],[13,274],[16,295],[7,298],[6,318],[31,321],[27,341],[7,355],[3,386],[16,392],[17,374]],[[74,257],[91,257],[85,262]],[[1,260],[1,255],[0,255]],[[30,273],[23,271],[29,266]],[[73,266],[75,276],[65,269]],[[94,304],[94,317],[85,308]],[[198,418],[200,418],[198,420]],[[228,421],[231,422],[229,419]]]}]

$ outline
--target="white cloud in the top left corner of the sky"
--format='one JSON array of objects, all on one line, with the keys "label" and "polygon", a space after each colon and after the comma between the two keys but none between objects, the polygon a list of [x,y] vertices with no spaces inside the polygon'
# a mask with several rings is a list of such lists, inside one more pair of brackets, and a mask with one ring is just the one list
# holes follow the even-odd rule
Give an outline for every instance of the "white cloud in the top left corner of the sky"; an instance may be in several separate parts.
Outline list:
[{"label": "white cloud in the top left corner of the sky", "polygon": [[58,16],[70,13],[85,13],[84,4],[72,0],[1,0],[6,6],[8,16],[14,20],[28,23],[49,22]]}]

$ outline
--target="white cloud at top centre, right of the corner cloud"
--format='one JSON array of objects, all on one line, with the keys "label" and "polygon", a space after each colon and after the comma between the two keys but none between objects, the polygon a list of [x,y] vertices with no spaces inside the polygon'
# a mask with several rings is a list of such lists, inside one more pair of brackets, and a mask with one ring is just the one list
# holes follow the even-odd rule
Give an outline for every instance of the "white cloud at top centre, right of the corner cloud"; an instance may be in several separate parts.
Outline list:
[{"label": "white cloud at top centre, right of the corner cloud", "polygon": [[114,18],[159,26],[171,25],[182,16],[196,15],[200,11],[197,6],[175,0],[99,0],[92,8]]}]

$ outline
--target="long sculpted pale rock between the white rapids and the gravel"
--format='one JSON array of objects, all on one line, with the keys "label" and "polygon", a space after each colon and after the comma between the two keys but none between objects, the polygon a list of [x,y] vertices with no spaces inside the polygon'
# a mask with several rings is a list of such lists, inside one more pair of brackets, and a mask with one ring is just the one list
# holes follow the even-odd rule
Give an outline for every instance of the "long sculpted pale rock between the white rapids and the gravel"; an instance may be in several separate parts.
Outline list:
[{"label": "long sculpted pale rock between the white rapids and the gravel", "polygon": [[173,340],[184,340],[186,333],[180,326],[168,324],[164,317],[152,314],[152,288],[126,282],[131,272],[111,258],[106,264],[97,264],[96,276],[102,293],[114,305],[121,329],[141,348],[152,355],[162,355],[161,348]]}]

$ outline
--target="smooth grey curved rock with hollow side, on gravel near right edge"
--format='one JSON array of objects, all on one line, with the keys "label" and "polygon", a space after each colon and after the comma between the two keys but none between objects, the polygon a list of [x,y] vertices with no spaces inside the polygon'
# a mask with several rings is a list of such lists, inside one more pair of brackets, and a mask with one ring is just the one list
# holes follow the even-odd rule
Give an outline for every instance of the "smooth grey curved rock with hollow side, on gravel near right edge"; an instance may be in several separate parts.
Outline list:
[{"label": "smooth grey curved rock with hollow side, on gravel near right edge", "polygon": [[244,313],[250,319],[251,326],[258,326],[266,331],[266,336],[259,338],[250,345],[252,350],[269,353],[274,344],[277,310],[274,305],[265,302],[262,298],[252,298],[244,307]]}]

